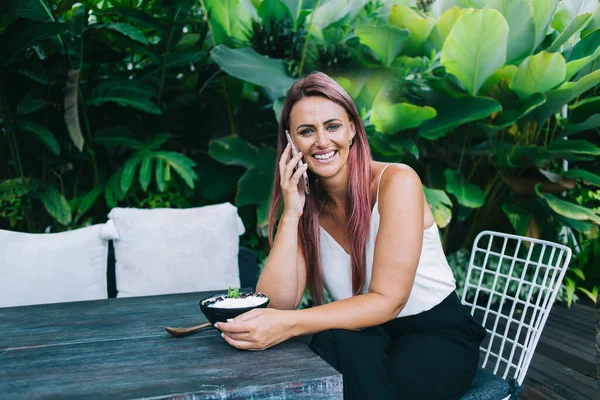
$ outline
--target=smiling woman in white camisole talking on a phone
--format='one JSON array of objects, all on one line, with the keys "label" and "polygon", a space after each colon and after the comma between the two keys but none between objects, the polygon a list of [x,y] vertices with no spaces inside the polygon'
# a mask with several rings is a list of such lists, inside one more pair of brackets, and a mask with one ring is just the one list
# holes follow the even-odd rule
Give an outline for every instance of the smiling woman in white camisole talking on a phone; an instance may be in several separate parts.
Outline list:
[{"label": "smiling woman in white camisole talking on a phone", "polygon": [[[277,154],[277,233],[257,285],[270,308],[218,324],[225,340],[262,350],[313,334],[347,399],[460,398],[485,329],[456,297],[418,175],[371,160],[354,102],[322,73],[290,88]],[[317,306],[296,310],[307,283]],[[323,287],[334,301],[319,305]]]}]

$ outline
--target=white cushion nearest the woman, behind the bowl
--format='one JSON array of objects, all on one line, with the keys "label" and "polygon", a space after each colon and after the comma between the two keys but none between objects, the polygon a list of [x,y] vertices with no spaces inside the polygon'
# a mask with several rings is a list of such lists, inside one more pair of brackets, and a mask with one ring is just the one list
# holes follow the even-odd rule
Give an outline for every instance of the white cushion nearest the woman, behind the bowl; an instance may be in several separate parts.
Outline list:
[{"label": "white cushion nearest the woman, behind the bowl", "polygon": [[199,208],[114,208],[117,297],[239,287],[244,224],[229,203]]}]

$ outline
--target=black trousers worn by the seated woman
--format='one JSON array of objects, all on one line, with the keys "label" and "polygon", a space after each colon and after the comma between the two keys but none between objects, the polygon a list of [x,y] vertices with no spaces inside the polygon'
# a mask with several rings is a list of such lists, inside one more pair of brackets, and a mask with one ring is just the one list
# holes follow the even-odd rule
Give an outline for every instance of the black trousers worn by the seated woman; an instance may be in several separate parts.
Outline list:
[{"label": "black trousers worn by the seated woman", "polygon": [[471,386],[485,335],[453,292],[418,315],[317,333],[310,347],[342,374],[346,400],[450,400]]}]

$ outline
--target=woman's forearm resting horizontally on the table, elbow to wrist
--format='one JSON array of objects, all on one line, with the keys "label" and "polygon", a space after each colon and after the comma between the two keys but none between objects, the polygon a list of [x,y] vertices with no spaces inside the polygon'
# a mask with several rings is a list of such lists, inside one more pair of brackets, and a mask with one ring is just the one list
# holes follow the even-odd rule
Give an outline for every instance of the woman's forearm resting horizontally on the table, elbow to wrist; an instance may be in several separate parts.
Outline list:
[{"label": "woman's forearm resting horizontally on the table, elbow to wrist", "polygon": [[293,336],[328,329],[360,330],[396,318],[406,301],[393,302],[378,293],[366,293],[289,314]]}]

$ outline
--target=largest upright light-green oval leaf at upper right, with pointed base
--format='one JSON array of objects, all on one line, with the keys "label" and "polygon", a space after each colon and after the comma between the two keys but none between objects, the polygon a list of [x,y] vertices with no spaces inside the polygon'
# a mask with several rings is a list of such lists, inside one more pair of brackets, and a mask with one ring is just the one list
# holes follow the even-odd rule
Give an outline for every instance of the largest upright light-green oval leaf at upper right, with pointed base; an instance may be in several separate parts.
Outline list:
[{"label": "largest upright light-green oval leaf at upper right, with pointed base", "polygon": [[456,21],[440,60],[474,96],[506,62],[507,41],[508,24],[502,14],[497,10],[475,10]]}]

